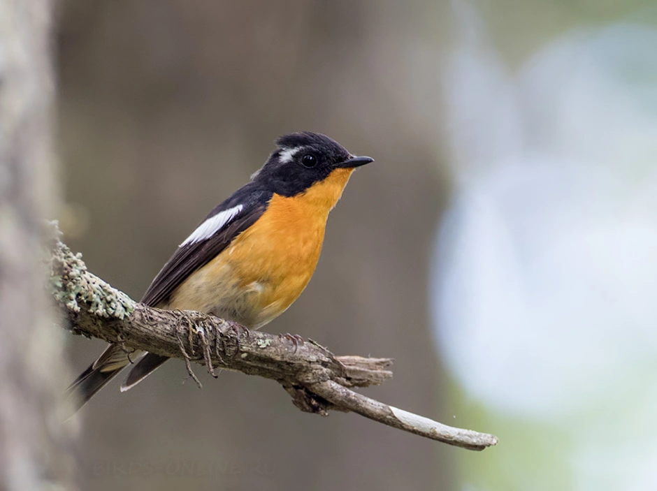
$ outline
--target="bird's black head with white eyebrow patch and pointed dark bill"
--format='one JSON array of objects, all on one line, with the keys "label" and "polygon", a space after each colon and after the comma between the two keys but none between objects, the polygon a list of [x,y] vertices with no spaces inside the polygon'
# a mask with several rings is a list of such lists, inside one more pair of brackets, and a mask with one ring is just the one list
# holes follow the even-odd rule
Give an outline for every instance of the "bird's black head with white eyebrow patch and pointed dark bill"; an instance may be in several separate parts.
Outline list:
[{"label": "bird's black head with white eyebrow patch and pointed dark bill", "polygon": [[320,133],[303,131],[276,140],[278,149],[252,176],[282,196],[296,196],[340,168],[356,168],[374,159],[356,157],[338,142]]}]

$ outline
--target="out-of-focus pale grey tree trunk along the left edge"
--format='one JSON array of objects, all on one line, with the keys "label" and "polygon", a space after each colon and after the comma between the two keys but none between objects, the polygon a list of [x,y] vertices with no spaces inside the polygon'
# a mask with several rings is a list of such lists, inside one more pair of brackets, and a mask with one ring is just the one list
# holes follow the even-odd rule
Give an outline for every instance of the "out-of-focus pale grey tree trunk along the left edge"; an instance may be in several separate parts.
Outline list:
[{"label": "out-of-focus pale grey tree trunk along the left edge", "polygon": [[41,230],[55,212],[50,0],[0,0],[0,490],[71,488],[55,416],[63,332],[48,318]]}]

